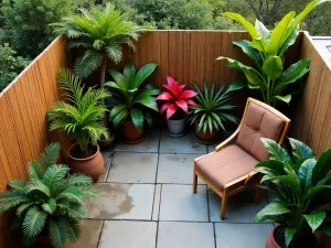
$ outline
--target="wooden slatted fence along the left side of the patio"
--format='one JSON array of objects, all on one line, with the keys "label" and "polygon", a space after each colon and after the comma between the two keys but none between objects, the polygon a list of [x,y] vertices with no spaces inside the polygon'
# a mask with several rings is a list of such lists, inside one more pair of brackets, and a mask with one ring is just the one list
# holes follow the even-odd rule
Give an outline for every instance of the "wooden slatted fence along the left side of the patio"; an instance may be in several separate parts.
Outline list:
[{"label": "wooden slatted fence along the left side of the patio", "polygon": [[[10,180],[26,179],[28,162],[38,159],[50,141],[61,141],[66,150],[63,134],[47,133],[45,117],[60,99],[58,68],[68,65],[66,40],[57,37],[0,94],[0,191]],[[7,218],[0,215],[0,247],[19,247]]]}]

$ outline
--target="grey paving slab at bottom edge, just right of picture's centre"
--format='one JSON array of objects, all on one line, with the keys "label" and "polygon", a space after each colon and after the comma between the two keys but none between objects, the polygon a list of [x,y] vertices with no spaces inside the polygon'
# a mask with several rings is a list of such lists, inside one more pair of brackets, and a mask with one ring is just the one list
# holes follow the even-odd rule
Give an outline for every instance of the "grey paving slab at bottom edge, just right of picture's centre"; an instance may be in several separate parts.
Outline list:
[{"label": "grey paving slab at bottom edge, just right of picture's centre", "polygon": [[158,248],[215,248],[212,223],[160,222]]}]

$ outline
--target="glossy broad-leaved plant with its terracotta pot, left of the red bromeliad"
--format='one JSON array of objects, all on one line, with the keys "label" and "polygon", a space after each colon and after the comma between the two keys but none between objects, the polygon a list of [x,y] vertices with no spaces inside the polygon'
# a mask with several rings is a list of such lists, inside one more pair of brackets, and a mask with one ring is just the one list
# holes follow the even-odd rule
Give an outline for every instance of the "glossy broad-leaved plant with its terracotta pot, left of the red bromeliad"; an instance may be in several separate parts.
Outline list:
[{"label": "glossy broad-leaved plant with its terracotta pot, left of the red bromeliad", "polygon": [[127,143],[139,143],[145,138],[145,120],[151,127],[149,110],[159,111],[154,96],[159,89],[143,82],[154,72],[157,64],[146,64],[137,73],[132,62],[125,64],[124,74],[109,69],[115,82],[106,83],[113,94],[107,106],[109,120],[114,127],[120,127]]}]

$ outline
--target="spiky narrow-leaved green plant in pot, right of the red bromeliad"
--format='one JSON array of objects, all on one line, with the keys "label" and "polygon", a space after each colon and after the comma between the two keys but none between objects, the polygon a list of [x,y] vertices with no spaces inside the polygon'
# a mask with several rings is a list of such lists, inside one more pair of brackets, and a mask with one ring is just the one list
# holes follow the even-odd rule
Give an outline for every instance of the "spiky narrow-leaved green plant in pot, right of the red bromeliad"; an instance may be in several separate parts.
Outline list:
[{"label": "spiky narrow-leaved green plant in pot, right of the red bromeliad", "polygon": [[223,85],[215,94],[214,83],[210,90],[205,82],[203,83],[203,90],[194,84],[194,89],[199,94],[195,96],[196,106],[190,107],[188,122],[194,125],[195,137],[199,142],[214,143],[220,131],[225,131],[224,122],[238,122],[237,118],[231,114],[231,110],[236,106],[229,105],[228,100],[232,91],[243,87],[243,84],[234,83],[225,90]]}]

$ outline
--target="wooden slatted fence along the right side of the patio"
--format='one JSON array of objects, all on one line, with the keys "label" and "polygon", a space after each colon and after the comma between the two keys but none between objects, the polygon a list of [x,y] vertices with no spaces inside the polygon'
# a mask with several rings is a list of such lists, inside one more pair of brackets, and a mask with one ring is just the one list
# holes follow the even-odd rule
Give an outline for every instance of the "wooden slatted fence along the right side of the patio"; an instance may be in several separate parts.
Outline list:
[{"label": "wooden slatted fence along the right side of the patio", "polygon": [[301,57],[310,57],[311,65],[295,106],[291,133],[320,154],[331,148],[331,67],[308,33],[302,37]]}]

